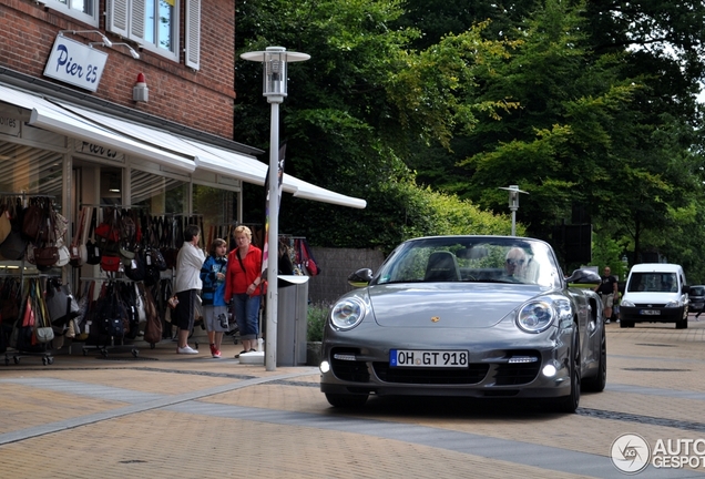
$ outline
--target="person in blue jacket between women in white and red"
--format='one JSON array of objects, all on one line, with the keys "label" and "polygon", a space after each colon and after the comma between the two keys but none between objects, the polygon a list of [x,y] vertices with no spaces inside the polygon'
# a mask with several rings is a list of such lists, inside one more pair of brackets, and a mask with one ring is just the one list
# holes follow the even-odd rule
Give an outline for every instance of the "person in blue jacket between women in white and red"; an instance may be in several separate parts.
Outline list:
[{"label": "person in blue jacket between women in white and red", "polygon": [[223,333],[227,332],[227,303],[225,303],[225,273],[227,272],[227,242],[216,238],[211,244],[208,257],[201,267],[201,298],[203,317],[208,330],[211,355],[221,357]]}]

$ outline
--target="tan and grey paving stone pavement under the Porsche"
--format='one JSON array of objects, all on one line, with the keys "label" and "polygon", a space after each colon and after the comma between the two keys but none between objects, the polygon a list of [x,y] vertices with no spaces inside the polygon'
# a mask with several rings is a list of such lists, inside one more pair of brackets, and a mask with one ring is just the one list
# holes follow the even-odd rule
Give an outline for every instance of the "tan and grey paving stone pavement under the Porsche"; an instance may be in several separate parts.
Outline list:
[{"label": "tan and grey paving stone pavement under the Porsche", "polygon": [[[575,415],[517,402],[374,398],[329,407],[314,367],[155,348],[0,365],[2,478],[624,477],[622,434],[705,438],[705,322],[607,325],[609,383]],[[201,345],[202,349],[207,350]],[[638,478],[705,477],[647,468]]]}]

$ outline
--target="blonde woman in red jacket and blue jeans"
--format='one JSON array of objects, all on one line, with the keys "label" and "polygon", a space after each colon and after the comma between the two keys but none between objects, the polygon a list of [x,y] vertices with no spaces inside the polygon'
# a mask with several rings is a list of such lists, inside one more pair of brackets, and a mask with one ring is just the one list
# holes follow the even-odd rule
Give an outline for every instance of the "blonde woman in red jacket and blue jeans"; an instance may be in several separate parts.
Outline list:
[{"label": "blonde woman in red jacket and blue jeans", "polygon": [[252,231],[237,226],[234,232],[237,247],[227,257],[225,302],[233,302],[243,350],[254,353],[259,335],[259,303],[262,287],[262,249],[252,244]]}]

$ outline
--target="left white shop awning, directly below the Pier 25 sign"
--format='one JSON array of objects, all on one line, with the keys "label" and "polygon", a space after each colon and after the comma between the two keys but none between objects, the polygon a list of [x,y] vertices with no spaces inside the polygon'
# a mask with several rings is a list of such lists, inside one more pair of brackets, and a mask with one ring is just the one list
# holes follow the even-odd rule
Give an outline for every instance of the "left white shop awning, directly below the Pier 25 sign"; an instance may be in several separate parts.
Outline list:
[{"label": "left white shop awning, directly below the Pier 25 sign", "polygon": [[196,170],[195,162],[183,155],[163,151],[147,142],[121,135],[100,124],[86,121],[43,98],[0,85],[0,101],[30,110],[31,114],[28,123],[32,126],[86,140],[101,146],[114,149],[181,171],[193,172]]}]

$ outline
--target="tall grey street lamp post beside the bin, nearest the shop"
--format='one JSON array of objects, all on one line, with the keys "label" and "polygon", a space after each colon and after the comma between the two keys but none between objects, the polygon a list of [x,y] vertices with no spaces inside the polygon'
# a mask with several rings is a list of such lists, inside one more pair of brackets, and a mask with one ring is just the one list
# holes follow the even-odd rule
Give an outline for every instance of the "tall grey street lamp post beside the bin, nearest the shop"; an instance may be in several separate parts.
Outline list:
[{"label": "tall grey street lamp post beside the bin, nearest the shop", "polygon": [[265,338],[265,368],[276,370],[277,366],[277,272],[279,241],[279,103],[286,96],[286,64],[305,61],[310,58],[306,53],[287,52],[284,47],[267,47],[266,51],[247,52],[243,60],[258,61],[263,64],[263,95],[272,105],[269,126],[269,232],[267,263],[267,336]]}]

